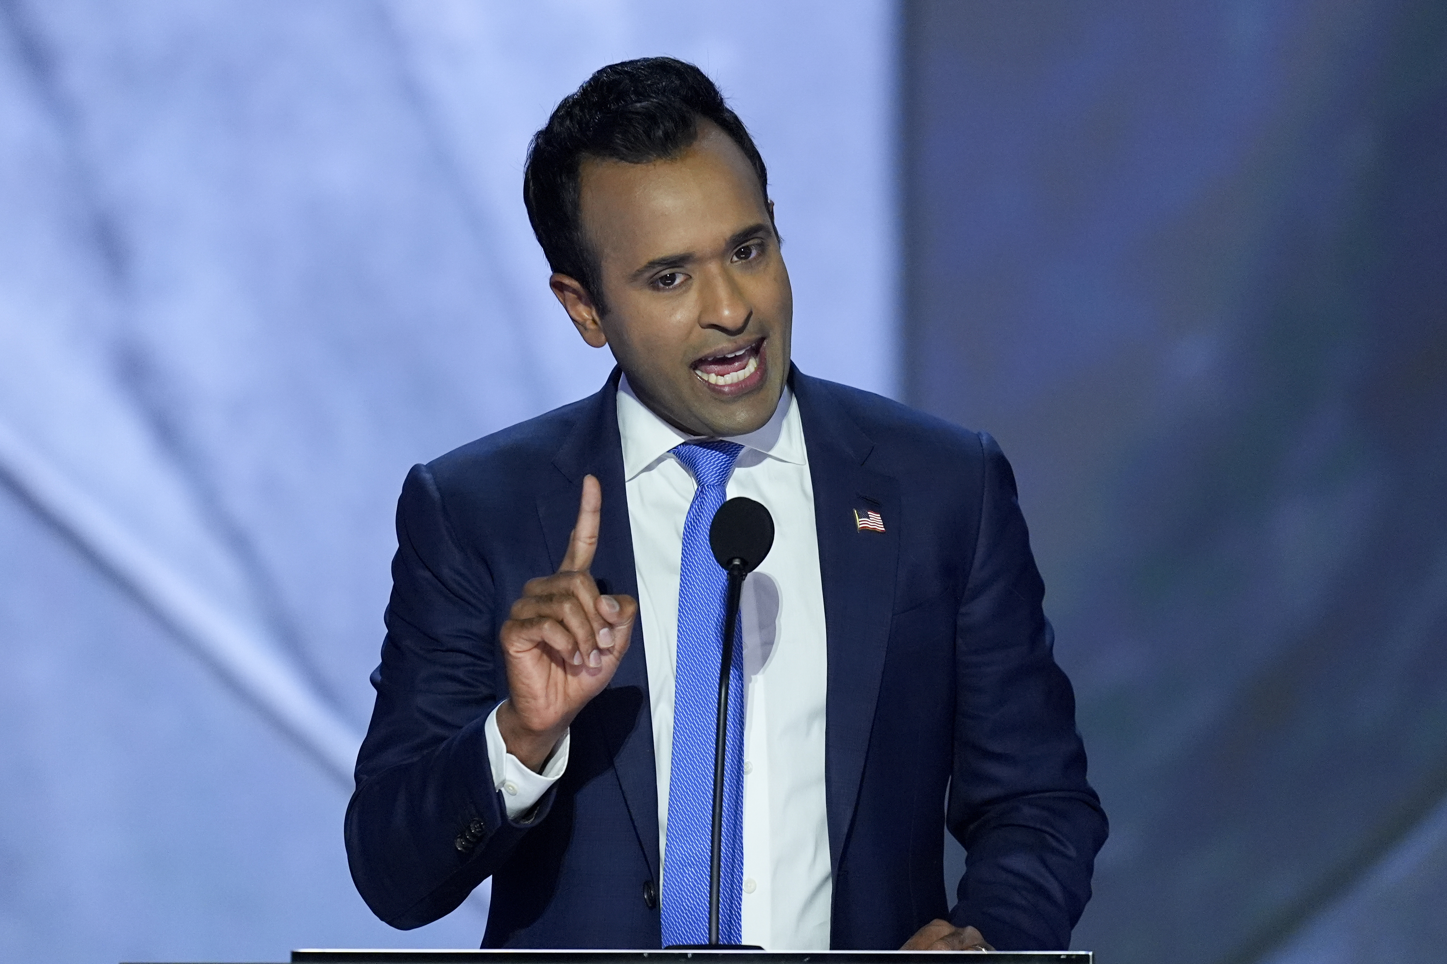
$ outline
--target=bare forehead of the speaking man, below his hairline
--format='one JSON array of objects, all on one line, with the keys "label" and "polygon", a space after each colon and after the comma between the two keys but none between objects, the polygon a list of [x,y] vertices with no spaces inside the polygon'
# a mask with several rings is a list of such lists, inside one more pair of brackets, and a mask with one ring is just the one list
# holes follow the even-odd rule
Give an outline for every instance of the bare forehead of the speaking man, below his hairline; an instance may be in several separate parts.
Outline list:
[{"label": "bare forehead of the speaking man, below his hairline", "polygon": [[708,121],[677,158],[648,163],[586,159],[579,171],[579,214],[605,264],[702,253],[768,220],[748,158]]}]

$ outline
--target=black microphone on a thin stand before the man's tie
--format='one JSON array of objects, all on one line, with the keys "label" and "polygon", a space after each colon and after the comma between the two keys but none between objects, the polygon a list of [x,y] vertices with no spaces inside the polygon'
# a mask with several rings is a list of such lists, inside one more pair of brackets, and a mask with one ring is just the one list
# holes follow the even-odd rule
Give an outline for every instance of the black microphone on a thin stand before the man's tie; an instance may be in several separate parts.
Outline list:
[{"label": "black microphone on a thin stand before the man's tie", "polygon": [[[728,572],[728,601],[724,607],[724,653],[719,660],[719,711],[713,733],[713,845],[709,854],[709,947],[719,945],[719,877],[724,864],[724,750],[728,744],[729,669],[734,665],[734,632],[744,578],[758,568],[774,545],[774,517],[752,499],[729,499],[713,513],[709,546]],[[754,945],[729,945],[763,951]]]}]

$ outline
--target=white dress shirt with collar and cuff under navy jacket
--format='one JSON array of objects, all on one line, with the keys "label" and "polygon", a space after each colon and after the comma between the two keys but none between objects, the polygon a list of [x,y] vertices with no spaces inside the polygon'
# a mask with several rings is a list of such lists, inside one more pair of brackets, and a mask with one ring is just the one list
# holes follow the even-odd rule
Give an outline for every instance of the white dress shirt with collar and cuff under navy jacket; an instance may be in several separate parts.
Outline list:
[{"label": "white dress shirt with collar and cuff under navy jacket", "polygon": [[[696,490],[669,449],[692,436],[638,402],[627,379],[618,390],[618,431],[648,665],[658,853],[667,860],[679,565]],[[742,939],[771,951],[825,950],[832,898],[823,770],[828,647],[813,483],[793,395],[784,389],[761,429],[728,441],[744,445],[728,496],[755,499],[774,516],[774,546],[744,584],[741,603],[748,691]],[[508,815],[518,817],[566,770],[569,737],[534,773],[506,752],[495,717],[486,724],[492,775]]]}]

